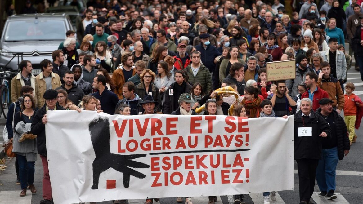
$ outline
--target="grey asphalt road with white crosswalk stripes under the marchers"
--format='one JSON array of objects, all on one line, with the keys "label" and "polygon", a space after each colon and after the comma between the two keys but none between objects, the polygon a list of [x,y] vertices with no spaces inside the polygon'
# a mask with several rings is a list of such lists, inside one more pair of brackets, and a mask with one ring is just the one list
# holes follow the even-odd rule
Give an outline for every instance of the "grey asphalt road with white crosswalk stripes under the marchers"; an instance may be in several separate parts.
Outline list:
[{"label": "grey asphalt road with white crosswalk stripes under the marchers", "polygon": [[[356,90],[354,91],[360,97],[363,97],[363,82],[360,79],[359,72],[355,70],[349,70],[348,72],[348,82],[353,82],[356,85]],[[5,119],[2,116],[0,118],[0,130],[3,130],[5,125]],[[314,203],[335,203],[335,204],[361,204],[363,203],[363,127],[356,130],[358,135],[357,142],[351,146],[351,150],[342,161],[339,161],[337,166],[337,189],[338,199],[334,201],[327,201],[317,197],[314,194]],[[1,133],[0,133],[1,134]],[[2,136],[0,137],[0,143],[2,143]],[[1,165],[1,164],[0,164]],[[35,166],[35,179],[34,185],[37,187],[37,193],[31,195],[28,191],[25,197],[20,197],[20,185],[15,184],[16,174],[15,174],[15,159],[6,159],[5,165],[7,166],[4,171],[0,172],[0,204],[10,204],[10,203],[21,203],[21,204],[38,204],[42,200],[42,165],[41,159],[38,158]],[[278,165],[278,158],[276,158],[276,165]],[[295,174],[294,174],[294,191],[279,191],[277,193],[277,201],[271,203],[299,203],[299,186],[297,177],[297,166],[294,164]],[[284,175],[281,175],[284,176]],[[57,187],[52,187],[57,188]],[[315,192],[319,192],[318,186],[315,185]],[[208,197],[192,197],[193,203],[208,203]],[[246,203],[257,204],[263,203],[262,193],[245,195]],[[217,204],[231,204],[231,196],[219,196]],[[102,203],[112,203],[111,201],[99,202]],[[144,203],[143,199],[140,200],[129,200],[129,203]],[[162,198],[159,202],[154,202],[155,204],[176,204],[176,198]]]}]

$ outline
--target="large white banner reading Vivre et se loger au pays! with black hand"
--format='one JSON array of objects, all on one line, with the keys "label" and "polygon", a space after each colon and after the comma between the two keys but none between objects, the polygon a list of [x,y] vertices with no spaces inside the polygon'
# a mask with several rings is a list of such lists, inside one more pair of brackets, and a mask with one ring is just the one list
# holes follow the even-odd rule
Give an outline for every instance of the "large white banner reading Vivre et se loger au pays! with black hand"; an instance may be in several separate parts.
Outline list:
[{"label": "large white banner reading Vivre et se loger au pays! with black hand", "polygon": [[48,111],[55,203],[293,190],[294,118]]}]

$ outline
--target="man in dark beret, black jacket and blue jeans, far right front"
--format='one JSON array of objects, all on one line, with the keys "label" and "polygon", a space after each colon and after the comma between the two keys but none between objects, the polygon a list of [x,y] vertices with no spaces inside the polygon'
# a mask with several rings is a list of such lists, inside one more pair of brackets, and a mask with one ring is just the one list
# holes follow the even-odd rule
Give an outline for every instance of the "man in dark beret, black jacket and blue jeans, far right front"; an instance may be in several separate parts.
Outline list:
[{"label": "man in dark beret, black jacket and blue jeans, far right front", "polygon": [[322,158],[319,160],[317,168],[317,183],[321,193],[319,197],[329,200],[337,198],[335,191],[335,169],[338,160],[349,154],[350,141],[347,135],[347,126],[339,113],[333,109],[333,101],[329,98],[319,100],[320,108],[316,113],[329,124],[331,128],[331,138],[322,139]]}]

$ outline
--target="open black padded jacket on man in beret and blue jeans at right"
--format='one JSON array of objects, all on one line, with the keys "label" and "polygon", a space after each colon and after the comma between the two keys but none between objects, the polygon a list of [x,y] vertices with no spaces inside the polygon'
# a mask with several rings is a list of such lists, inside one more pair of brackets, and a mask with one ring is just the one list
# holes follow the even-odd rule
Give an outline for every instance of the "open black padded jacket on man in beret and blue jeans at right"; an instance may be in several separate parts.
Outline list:
[{"label": "open black padded jacket on man in beret and blue jeans at right", "polygon": [[[322,116],[320,111],[321,108],[318,108],[315,113]],[[335,134],[337,135],[338,156],[339,160],[342,160],[344,158],[344,150],[350,150],[350,141],[347,134],[348,129],[345,125],[344,119],[338,114],[336,110],[333,109],[331,114],[334,115],[335,130],[337,130]]]}]

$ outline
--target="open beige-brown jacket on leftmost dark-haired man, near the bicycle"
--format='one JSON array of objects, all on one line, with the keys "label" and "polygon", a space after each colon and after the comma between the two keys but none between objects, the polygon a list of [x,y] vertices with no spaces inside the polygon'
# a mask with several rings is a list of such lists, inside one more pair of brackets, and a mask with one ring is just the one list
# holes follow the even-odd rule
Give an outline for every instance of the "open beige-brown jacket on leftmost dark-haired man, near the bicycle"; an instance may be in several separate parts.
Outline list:
[{"label": "open beige-brown jacket on leftmost dark-haired man, near the bicycle", "polygon": [[[36,93],[37,93],[38,87],[37,87],[37,82],[36,82],[33,74],[32,74],[32,76],[30,76],[30,83],[34,89],[33,97],[35,99],[35,104],[37,104]],[[18,100],[18,98],[20,97],[20,90],[21,90],[21,87],[23,87],[23,86],[25,86],[25,83],[24,83],[24,80],[21,78],[21,72],[19,72],[15,77],[13,77],[11,79],[11,101],[13,103],[16,102]]]}]

